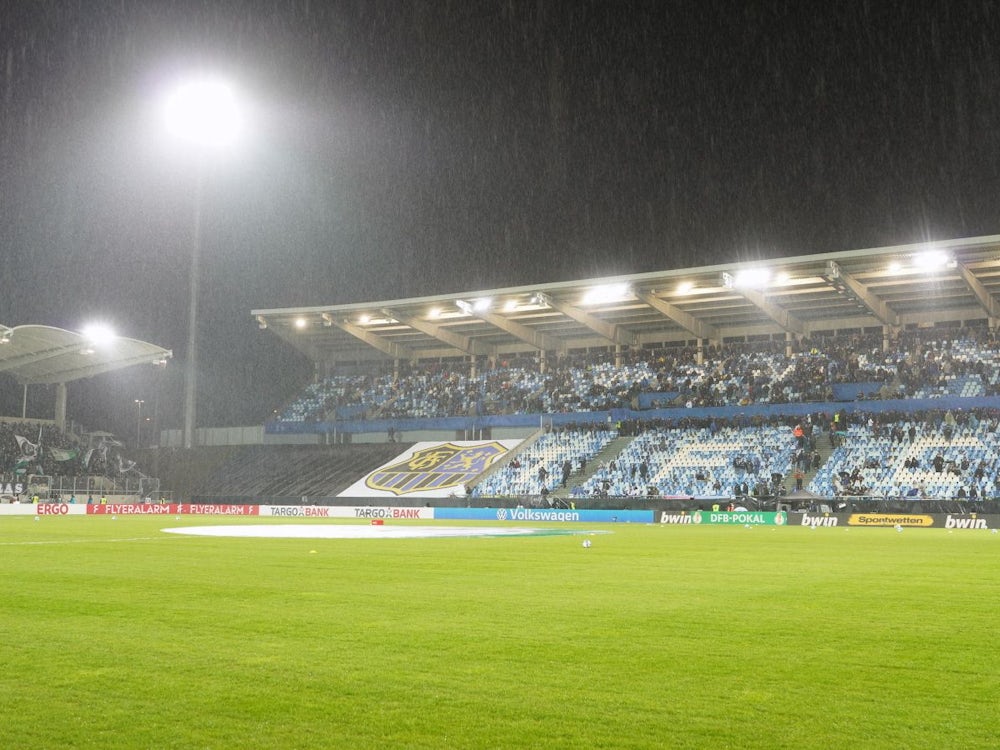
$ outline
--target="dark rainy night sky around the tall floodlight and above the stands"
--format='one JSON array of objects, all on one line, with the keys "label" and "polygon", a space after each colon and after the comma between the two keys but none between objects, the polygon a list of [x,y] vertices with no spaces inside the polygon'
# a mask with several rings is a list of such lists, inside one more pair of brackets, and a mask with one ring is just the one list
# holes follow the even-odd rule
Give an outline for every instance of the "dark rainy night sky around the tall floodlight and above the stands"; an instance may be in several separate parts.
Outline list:
[{"label": "dark rainy night sky around the tall floodlight and above the stands", "polygon": [[0,322],[175,353],[71,387],[94,428],[181,422],[195,168],[149,112],[198,71],[252,104],[205,169],[201,424],[308,376],[256,307],[1000,229],[993,2],[4,5]]}]

